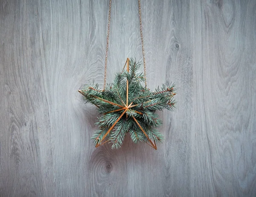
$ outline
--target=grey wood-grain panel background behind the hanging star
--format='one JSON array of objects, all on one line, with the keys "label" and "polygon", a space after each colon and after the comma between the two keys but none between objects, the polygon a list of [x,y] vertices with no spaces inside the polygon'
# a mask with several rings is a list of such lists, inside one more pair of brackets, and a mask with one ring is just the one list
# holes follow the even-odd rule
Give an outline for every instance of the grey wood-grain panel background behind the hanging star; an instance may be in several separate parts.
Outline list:
[{"label": "grey wood-grain panel background behind the hanging star", "polygon": [[[148,87],[177,86],[155,151],[99,148],[79,88],[104,76],[108,0],[0,1],[0,196],[255,196],[256,1],[141,1]],[[142,60],[113,0],[107,82]],[[141,68],[142,70],[143,68]]]}]

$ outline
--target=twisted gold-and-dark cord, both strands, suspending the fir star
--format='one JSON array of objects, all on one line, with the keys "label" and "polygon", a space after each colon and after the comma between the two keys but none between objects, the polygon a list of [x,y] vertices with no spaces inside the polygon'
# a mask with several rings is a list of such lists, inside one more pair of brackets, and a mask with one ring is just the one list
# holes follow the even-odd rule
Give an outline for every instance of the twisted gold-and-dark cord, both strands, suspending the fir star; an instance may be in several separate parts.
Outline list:
[{"label": "twisted gold-and-dark cord, both strands, suspending the fir star", "polygon": [[[145,62],[145,53],[144,53],[144,44],[143,44],[143,34],[142,34],[142,22],[141,22],[141,9],[140,9],[140,0],[139,3],[139,17],[140,17],[140,37],[141,37],[141,46],[142,46],[142,55],[143,55],[143,66],[144,66],[144,79],[145,79],[145,87],[147,87],[146,80],[146,62]],[[105,56],[105,69],[104,69],[104,86],[103,91],[106,87],[106,79],[107,79],[107,62],[108,62],[108,41],[109,41],[109,29],[110,29],[110,16],[111,16],[111,0],[109,0],[109,10],[108,10],[108,34],[107,34],[107,46],[106,46],[106,56]]]}]

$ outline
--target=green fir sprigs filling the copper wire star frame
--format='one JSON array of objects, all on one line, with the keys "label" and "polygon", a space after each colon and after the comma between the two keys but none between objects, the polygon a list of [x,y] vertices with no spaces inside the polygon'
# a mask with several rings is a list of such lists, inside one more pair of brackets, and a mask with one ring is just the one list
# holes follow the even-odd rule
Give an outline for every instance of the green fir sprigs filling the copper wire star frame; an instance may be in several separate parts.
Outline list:
[{"label": "green fir sprigs filling the copper wire star frame", "polygon": [[[121,73],[117,73],[113,84],[108,84],[104,91],[99,90],[98,84],[84,85],[83,89],[79,90],[84,96],[85,103],[96,105],[101,114],[96,122],[99,129],[94,132],[92,137],[95,144],[103,143],[104,135],[124,112],[125,109],[118,109],[121,108],[120,106],[126,107],[127,80],[128,105],[132,102],[134,107],[126,111],[113,129],[106,135],[105,140],[108,140],[108,143],[112,144],[112,148],[116,149],[122,145],[126,133],[130,133],[134,143],[139,141],[147,142],[148,138],[152,141],[163,141],[163,135],[156,129],[160,127],[162,121],[158,118],[155,111],[163,109],[173,110],[176,103],[173,98],[175,95],[175,84],[163,84],[162,87],[158,87],[154,92],[151,92],[141,84],[145,82],[145,79],[143,73],[139,72],[140,63],[130,59],[129,65],[129,71],[123,70]],[[111,112],[113,110],[118,111]],[[134,118],[136,118],[148,135],[148,138],[134,121]]]}]

